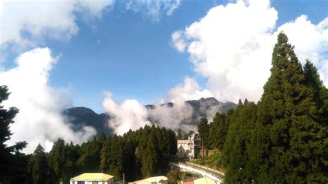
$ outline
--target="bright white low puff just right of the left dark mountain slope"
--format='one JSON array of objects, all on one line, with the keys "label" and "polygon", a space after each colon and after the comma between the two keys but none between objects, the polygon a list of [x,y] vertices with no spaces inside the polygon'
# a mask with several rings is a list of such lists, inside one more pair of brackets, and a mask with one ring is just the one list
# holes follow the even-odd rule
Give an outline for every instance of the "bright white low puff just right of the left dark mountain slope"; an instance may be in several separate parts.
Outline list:
[{"label": "bright white low puff just right of the left dark mountain slope", "polygon": [[109,127],[114,129],[114,133],[122,135],[125,132],[139,129],[149,125],[147,120],[147,109],[137,100],[125,100],[122,104],[117,104],[111,98],[111,93],[105,93],[102,107],[109,113]]}]

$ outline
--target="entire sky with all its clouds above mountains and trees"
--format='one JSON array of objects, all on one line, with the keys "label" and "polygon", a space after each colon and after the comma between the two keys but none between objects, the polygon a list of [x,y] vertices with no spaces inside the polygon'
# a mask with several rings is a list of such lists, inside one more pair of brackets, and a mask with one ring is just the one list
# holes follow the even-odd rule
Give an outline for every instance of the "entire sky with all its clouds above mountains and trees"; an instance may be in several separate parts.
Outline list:
[{"label": "entire sky with all its clouds above mountains and trees", "polygon": [[[184,100],[257,102],[280,31],[328,86],[327,10],[327,0],[1,1],[0,84],[11,92],[6,107],[20,109],[8,144],[27,140],[28,152],[94,136],[71,129],[68,107],[107,112],[123,134],[149,114],[175,129],[192,111]],[[178,105],[143,107],[164,102]]]}]

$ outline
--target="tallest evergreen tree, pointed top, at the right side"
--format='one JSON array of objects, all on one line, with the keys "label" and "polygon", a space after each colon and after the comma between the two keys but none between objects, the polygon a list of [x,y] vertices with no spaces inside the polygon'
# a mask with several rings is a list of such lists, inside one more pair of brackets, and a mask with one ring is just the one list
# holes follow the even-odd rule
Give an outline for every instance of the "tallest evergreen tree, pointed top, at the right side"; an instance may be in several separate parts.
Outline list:
[{"label": "tallest evergreen tree, pointed top, at the right side", "polygon": [[[280,33],[273,50],[271,76],[259,102],[251,161],[260,183],[326,183],[323,172],[327,135],[316,122],[313,90],[307,86],[293,46]],[[323,137],[322,137],[323,136]]]}]

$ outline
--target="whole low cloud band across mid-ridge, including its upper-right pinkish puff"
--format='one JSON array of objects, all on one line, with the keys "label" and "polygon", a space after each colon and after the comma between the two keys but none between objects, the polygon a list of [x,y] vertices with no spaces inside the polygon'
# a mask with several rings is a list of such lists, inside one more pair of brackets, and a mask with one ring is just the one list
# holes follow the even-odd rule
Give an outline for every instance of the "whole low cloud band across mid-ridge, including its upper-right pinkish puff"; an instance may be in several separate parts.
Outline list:
[{"label": "whole low cloud band across mid-ridge, including its upper-right pinkish puff", "polygon": [[[184,125],[184,121],[190,121],[193,109],[185,103],[185,100],[198,100],[199,98],[210,97],[210,91],[199,88],[199,84],[190,77],[185,77],[183,84],[176,85],[167,92],[161,103],[155,104],[154,108],[147,109],[137,100],[125,100],[121,104],[116,103],[111,93],[105,93],[102,107],[109,113],[109,127],[114,129],[116,134],[122,135],[125,132],[139,129],[145,125],[150,125],[152,120],[155,125],[169,129],[192,129],[194,125]],[[174,105],[163,104],[174,102]],[[181,124],[182,122],[182,124]]]}]

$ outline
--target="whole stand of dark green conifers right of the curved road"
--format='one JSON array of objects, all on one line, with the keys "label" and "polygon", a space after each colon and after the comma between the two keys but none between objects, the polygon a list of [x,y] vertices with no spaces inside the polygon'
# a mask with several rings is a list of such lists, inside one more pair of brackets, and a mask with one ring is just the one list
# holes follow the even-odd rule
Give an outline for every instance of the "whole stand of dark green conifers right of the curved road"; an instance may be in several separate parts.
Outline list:
[{"label": "whole stand of dark green conifers right of the curved road", "polygon": [[210,123],[210,148],[224,142],[225,182],[327,183],[327,112],[328,91],[317,68],[309,61],[302,67],[280,33],[259,103],[239,100],[235,111],[217,113]]}]

